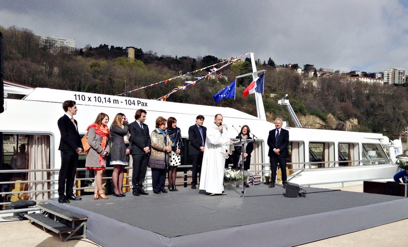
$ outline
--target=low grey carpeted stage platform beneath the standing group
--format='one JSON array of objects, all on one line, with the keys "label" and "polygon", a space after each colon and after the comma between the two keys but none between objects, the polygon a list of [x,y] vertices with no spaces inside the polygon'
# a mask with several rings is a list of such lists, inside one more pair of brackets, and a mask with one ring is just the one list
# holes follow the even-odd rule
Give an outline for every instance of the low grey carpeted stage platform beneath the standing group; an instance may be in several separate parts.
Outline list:
[{"label": "low grey carpeted stage platform beneath the standing group", "polygon": [[207,196],[179,188],[167,194],[109,196],[49,203],[88,216],[87,237],[103,246],[293,246],[408,218],[408,199],[301,187],[287,198],[276,185]]}]

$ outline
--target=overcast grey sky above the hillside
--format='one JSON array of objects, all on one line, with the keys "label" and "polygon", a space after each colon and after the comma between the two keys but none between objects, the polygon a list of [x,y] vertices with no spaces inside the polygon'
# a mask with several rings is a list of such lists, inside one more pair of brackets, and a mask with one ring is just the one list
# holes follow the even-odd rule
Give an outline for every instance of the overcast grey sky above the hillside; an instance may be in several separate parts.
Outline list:
[{"label": "overcast grey sky above the hillside", "polygon": [[254,52],[332,70],[408,70],[408,0],[0,0],[0,25],[159,56]]}]

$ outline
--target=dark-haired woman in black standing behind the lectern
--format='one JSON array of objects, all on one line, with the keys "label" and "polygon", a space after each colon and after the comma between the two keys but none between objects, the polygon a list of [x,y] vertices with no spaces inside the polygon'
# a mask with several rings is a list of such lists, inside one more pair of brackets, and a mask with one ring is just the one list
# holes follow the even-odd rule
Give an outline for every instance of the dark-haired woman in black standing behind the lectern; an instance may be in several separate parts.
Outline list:
[{"label": "dark-haired woman in black standing behind the lectern", "polygon": [[[251,136],[249,136],[250,129],[248,125],[244,125],[241,128],[241,132],[238,134],[236,139],[243,139],[243,140],[251,140]],[[233,169],[240,169],[242,168],[242,145],[239,144],[234,147],[235,151],[233,153],[233,160],[234,160],[234,166]],[[244,175],[246,176],[248,173],[248,169],[251,163],[251,153],[253,151],[253,143],[245,143],[244,144]],[[240,167],[239,167],[240,166]],[[244,182],[245,187],[249,187],[249,185]]]}]

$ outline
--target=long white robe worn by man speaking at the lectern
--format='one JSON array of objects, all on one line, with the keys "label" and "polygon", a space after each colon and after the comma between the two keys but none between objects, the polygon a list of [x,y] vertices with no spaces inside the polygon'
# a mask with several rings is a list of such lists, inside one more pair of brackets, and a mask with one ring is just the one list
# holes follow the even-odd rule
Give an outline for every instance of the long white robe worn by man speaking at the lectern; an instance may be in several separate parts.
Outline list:
[{"label": "long white robe worn by man speaking at the lectern", "polygon": [[207,129],[207,138],[202,156],[200,173],[200,190],[207,193],[221,194],[224,190],[224,166],[225,151],[230,151],[230,138],[228,130],[218,130],[218,126],[212,124]]}]

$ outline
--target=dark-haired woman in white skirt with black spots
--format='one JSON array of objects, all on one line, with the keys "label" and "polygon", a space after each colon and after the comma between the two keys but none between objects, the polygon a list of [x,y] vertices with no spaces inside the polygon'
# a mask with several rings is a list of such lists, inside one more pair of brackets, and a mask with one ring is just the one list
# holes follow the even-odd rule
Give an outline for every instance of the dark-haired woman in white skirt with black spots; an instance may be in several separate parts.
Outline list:
[{"label": "dark-haired woman in white skirt with black spots", "polygon": [[175,187],[175,179],[177,175],[177,166],[181,164],[181,151],[183,149],[182,132],[179,127],[177,127],[177,120],[173,117],[167,119],[167,129],[168,138],[172,142],[170,160],[169,160],[169,174],[167,185],[170,191],[179,191]]}]

